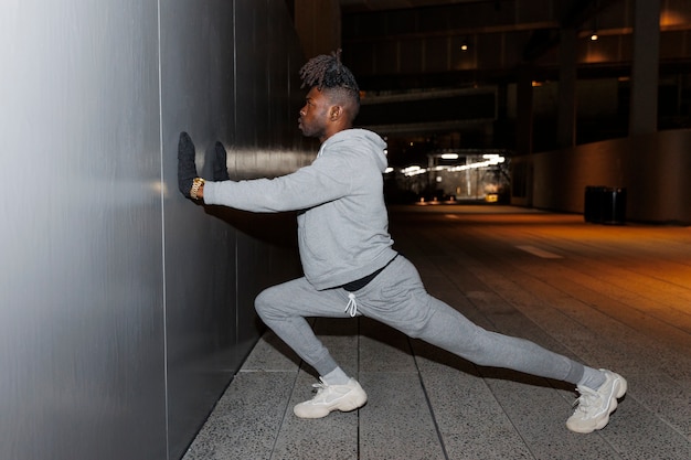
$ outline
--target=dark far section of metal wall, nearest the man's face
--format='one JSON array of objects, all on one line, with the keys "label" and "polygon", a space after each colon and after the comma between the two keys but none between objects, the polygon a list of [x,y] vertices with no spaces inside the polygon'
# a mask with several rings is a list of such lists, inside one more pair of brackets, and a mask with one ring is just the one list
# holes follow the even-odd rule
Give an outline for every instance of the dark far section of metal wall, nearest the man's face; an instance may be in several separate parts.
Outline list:
[{"label": "dark far section of metal wall, nearest the man's face", "polygon": [[[297,63],[299,50],[291,36],[285,7],[276,2],[237,2],[237,36],[247,38],[236,47],[237,62],[237,136],[233,143],[233,179],[274,176],[285,173],[285,163],[293,163],[286,151],[298,136],[297,117],[299,106],[294,106],[290,94],[299,92]],[[284,43],[284,46],[279,46]],[[288,46],[286,46],[286,44]],[[293,53],[287,52],[294,50]],[[291,81],[291,77],[294,78]],[[248,113],[244,108],[249,108]],[[298,164],[299,165],[299,164]],[[256,341],[258,324],[254,312],[254,298],[264,288],[285,280],[277,260],[290,264],[289,240],[286,234],[295,234],[294,215],[233,215],[237,233],[238,270],[237,318],[238,350],[245,351]],[[279,229],[279,233],[276,232]],[[267,244],[268,243],[268,244]],[[286,245],[288,243],[288,245]],[[286,252],[288,249],[288,252]],[[296,263],[297,267],[297,263]]]}]

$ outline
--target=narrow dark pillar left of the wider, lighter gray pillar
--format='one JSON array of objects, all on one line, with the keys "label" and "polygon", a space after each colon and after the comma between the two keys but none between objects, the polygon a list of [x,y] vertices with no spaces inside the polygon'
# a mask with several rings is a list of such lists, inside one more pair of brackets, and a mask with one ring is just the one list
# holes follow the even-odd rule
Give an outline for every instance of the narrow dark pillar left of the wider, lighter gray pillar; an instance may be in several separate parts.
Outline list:
[{"label": "narrow dark pillar left of the wider, lighter gray pillar", "polygon": [[564,148],[576,145],[576,29],[562,29],[560,43],[556,141]]}]

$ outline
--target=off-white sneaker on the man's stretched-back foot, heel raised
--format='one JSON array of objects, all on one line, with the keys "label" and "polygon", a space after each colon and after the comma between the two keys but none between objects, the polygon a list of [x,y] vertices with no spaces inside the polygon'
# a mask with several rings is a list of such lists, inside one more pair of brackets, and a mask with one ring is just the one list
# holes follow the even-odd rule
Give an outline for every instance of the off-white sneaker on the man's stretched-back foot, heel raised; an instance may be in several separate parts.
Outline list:
[{"label": "off-white sneaker on the man's stretched-back foot, heel raised", "polygon": [[578,386],[581,396],[576,400],[577,407],[566,420],[566,427],[575,432],[592,432],[603,429],[609,422],[609,414],[617,408],[617,398],[626,394],[626,379],[612,371],[605,373],[605,383],[597,389]]}]

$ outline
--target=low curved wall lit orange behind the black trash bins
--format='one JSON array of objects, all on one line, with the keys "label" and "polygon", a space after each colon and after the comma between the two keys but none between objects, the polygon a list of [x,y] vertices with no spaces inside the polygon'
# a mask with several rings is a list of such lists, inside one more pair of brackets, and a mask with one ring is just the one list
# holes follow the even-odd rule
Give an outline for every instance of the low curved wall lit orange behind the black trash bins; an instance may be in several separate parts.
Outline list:
[{"label": "low curved wall lit orange behind the black trash bins", "polygon": [[627,220],[689,225],[689,151],[684,129],[514,158],[514,185],[527,185],[514,186],[512,203],[582,213],[586,186],[626,188]]}]

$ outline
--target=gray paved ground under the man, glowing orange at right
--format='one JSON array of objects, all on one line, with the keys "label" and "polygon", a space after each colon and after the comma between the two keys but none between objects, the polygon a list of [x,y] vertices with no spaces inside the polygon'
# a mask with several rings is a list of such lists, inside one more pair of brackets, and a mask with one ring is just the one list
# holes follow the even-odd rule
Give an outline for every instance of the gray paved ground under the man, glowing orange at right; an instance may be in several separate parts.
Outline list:
[{"label": "gray paved ground under the man, glowing orange at right", "polygon": [[311,368],[267,332],[184,460],[691,459],[691,228],[585,224],[509,206],[394,207],[396,248],[428,291],[476,323],[623,374],[591,435],[573,388],[475,366],[371,320],[315,320],[369,395],[302,420]]}]

